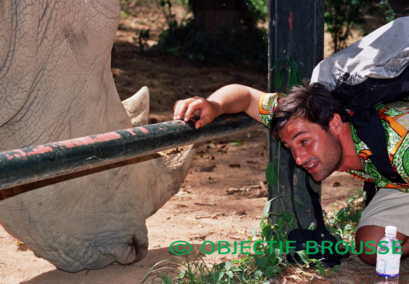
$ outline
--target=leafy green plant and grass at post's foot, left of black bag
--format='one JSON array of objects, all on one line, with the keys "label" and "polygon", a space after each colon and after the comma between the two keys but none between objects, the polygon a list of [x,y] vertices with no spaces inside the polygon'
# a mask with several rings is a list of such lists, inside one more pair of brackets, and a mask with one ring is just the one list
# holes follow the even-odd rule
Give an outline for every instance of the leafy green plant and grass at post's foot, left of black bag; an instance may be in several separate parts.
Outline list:
[{"label": "leafy green plant and grass at post's foot, left of black bag", "polygon": [[[278,197],[276,197],[278,198]],[[294,218],[288,212],[269,212],[273,198],[267,201],[263,210],[263,217],[260,222],[261,231],[252,230],[249,241],[258,243],[256,250],[260,254],[250,254],[241,259],[226,261],[219,264],[208,265],[201,255],[196,255],[193,260],[187,256],[185,259],[164,260],[180,266],[176,269],[171,265],[159,267],[164,261],[155,264],[146,273],[141,284],[148,276],[156,275],[155,280],[159,283],[244,283],[244,284],[266,284],[266,279],[276,278],[283,275],[287,264],[285,263],[285,246],[280,250],[279,242],[285,243],[288,230],[293,228]],[[275,215],[278,218],[272,221],[268,216]],[[276,241],[267,243],[265,241]],[[169,275],[161,270],[173,270],[175,273]],[[156,282],[156,283],[157,283]]]}]

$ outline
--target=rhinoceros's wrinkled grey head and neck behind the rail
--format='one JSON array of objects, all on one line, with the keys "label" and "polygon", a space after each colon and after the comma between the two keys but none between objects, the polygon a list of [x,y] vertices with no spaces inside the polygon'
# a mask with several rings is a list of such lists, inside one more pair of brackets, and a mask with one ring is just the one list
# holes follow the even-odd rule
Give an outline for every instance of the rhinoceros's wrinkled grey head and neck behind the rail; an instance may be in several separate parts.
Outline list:
[{"label": "rhinoceros's wrinkled grey head and neck behind the rail", "polygon": [[[0,151],[130,128],[144,111],[133,125],[146,124],[146,104],[132,106],[146,97],[127,113],[112,79],[119,12],[117,0],[0,0]],[[0,224],[65,271],[139,260],[145,219],[178,191],[193,148],[2,190]]]}]

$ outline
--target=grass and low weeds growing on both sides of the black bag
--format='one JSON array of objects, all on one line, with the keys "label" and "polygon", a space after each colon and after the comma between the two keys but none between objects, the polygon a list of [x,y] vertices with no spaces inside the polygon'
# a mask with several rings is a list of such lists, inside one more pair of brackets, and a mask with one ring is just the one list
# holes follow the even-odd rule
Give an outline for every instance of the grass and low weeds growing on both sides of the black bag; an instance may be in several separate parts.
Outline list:
[{"label": "grass and low weeds growing on both sides of the black bag", "polygon": [[[328,268],[324,263],[306,259],[304,264],[290,264],[285,258],[285,247],[279,248],[279,241],[285,243],[287,234],[294,226],[294,217],[290,212],[268,212],[272,200],[267,201],[259,230],[253,229],[249,241],[255,243],[259,254],[246,255],[239,259],[226,261],[219,264],[207,264],[201,255],[191,259],[185,258],[166,259],[155,264],[141,280],[145,282],[148,276],[154,276],[149,283],[159,284],[270,284],[270,283],[307,283],[310,279],[325,275],[331,277],[334,273],[341,274],[339,266]],[[346,203],[338,201],[333,204],[333,210],[326,216],[326,225],[337,239],[351,243],[355,236],[356,225],[362,215],[364,195],[361,192],[348,198]],[[276,216],[275,221],[268,218]],[[260,230],[261,229],[261,230]],[[277,241],[268,243],[265,241]],[[251,246],[253,247],[253,246]],[[290,253],[301,253],[289,251]],[[161,267],[165,261],[173,264]],[[313,266],[311,264],[313,263]],[[171,269],[169,271],[161,271]]]}]

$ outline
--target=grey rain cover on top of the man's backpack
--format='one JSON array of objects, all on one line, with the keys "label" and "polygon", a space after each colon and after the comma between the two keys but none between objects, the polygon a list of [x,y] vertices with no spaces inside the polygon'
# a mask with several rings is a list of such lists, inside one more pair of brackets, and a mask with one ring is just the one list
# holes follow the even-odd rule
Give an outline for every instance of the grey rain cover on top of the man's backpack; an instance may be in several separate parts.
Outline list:
[{"label": "grey rain cover on top of the man's backpack", "polygon": [[356,85],[371,78],[394,78],[409,64],[409,17],[398,18],[356,43],[321,61],[312,71],[311,83],[329,91],[348,72],[345,83]]}]

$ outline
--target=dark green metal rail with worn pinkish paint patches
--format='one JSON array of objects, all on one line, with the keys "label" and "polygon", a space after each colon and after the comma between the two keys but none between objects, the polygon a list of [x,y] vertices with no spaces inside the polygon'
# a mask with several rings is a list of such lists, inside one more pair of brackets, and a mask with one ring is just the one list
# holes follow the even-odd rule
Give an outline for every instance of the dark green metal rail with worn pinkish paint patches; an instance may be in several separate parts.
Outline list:
[{"label": "dark green metal rail with worn pinkish paint patches", "polygon": [[264,127],[245,113],[221,115],[199,129],[173,120],[0,153],[0,189],[71,174]]}]

